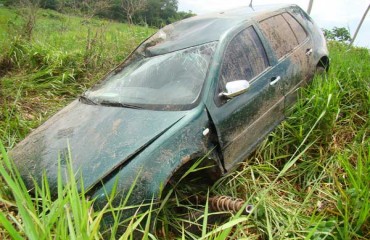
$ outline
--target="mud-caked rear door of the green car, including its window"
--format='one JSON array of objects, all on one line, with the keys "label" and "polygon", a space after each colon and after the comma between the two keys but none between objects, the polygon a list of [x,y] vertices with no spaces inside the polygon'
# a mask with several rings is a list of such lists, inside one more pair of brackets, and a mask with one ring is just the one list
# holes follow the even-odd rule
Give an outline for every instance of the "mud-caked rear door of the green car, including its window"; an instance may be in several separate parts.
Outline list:
[{"label": "mud-caked rear door of the green car, including its window", "polygon": [[259,22],[282,69],[285,106],[296,101],[297,89],[311,77],[312,41],[302,26],[284,12]]}]

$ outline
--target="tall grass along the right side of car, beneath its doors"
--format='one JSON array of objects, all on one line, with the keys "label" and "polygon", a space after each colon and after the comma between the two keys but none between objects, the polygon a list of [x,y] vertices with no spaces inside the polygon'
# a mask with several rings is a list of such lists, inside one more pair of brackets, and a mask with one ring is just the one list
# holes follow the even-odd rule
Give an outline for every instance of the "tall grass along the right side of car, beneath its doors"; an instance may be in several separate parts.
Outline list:
[{"label": "tall grass along the right side of car, beneath its doors", "polygon": [[[160,216],[161,236],[370,238],[370,54],[336,42],[330,53],[328,75],[301,89],[289,117],[209,193],[243,198],[253,213],[214,213],[175,198]],[[179,207],[181,214],[173,211]]]}]

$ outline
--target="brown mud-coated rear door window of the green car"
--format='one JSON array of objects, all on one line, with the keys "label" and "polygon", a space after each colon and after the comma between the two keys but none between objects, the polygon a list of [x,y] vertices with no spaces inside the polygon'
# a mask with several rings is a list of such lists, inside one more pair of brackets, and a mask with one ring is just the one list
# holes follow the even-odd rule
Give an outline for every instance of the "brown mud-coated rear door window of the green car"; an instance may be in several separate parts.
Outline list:
[{"label": "brown mud-coated rear door window of the green car", "polygon": [[298,45],[292,29],[281,15],[261,21],[260,27],[279,59]]}]

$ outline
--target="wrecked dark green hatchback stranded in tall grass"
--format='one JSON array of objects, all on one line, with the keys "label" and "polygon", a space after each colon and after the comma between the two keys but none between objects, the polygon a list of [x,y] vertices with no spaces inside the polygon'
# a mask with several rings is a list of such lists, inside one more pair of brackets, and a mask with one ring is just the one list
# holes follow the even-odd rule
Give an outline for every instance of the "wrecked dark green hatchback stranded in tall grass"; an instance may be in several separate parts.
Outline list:
[{"label": "wrecked dark green hatchback stranded in tall grass", "polygon": [[10,155],[30,189],[46,173],[57,194],[70,151],[96,206],[115,187],[119,205],[133,183],[129,203],[139,204],[199,158],[209,166],[201,183],[232,171],[328,68],[321,30],[296,5],[195,16],[140,44]]}]

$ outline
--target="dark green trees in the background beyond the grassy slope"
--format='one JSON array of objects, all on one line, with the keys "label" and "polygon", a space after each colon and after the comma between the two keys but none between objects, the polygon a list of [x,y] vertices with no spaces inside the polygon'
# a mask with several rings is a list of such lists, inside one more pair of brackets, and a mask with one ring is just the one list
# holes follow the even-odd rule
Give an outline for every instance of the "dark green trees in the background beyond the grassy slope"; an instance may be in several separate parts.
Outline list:
[{"label": "dark green trees in the background beyond the grassy slope", "polygon": [[[192,17],[192,12],[178,11],[178,0],[4,0],[6,5],[17,1],[37,1],[39,6],[75,15],[98,15],[116,21],[162,27]],[[8,1],[8,2],[7,2]],[[93,11],[92,11],[93,10]]]}]

